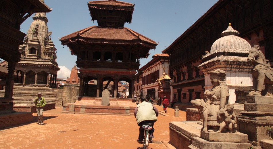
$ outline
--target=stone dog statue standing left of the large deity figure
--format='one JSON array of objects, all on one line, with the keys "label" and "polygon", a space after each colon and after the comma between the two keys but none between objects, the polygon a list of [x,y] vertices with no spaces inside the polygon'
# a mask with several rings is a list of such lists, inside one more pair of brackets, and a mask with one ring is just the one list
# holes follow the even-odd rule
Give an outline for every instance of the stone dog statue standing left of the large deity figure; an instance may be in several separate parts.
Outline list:
[{"label": "stone dog statue standing left of the large deity figure", "polygon": [[203,99],[191,100],[191,104],[198,109],[201,119],[203,120],[203,128],[201,131],[207,131],[207,110],[209,102],[204,102]]}]

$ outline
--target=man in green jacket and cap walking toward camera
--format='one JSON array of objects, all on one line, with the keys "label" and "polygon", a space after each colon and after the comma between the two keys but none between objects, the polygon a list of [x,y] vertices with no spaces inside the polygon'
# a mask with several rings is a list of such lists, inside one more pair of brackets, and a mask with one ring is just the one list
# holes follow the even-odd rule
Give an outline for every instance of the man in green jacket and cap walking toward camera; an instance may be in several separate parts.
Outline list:
[{"label": "man in green jacket and cap walking toward camera", "polygon": [[34,104],[36,106],[37,116],[38,116],[38,124],[43,125],[44,119],[43,119],[43,112],[44,112],[44,106],[46,104],[45,98],[42,97],[42,93],[38,93],[38,97],[36,97]]}]

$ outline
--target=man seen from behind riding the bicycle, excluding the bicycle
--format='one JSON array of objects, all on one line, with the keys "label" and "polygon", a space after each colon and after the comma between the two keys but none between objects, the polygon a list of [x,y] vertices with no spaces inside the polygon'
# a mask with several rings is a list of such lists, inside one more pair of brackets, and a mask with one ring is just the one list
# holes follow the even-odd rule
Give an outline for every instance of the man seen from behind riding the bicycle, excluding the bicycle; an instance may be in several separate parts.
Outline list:
[{"label": "man seen from behind riding the bicycle, excluding the bicycle", "polygon": [[[158,110],[153,104],[147,102],[146,96],[141,96],[140,99],[141,103],[134,109],[134,117],[136,117],[137,125],[139,125],[139,139],[137,142],[143,144],[144,129],[142,128],[142,125],[145,123],[151,123],[150,125],[153,127],[153,124],[157,121],[156,117],[158,116]],[[153,142],[152,138],[154,138],[154,131],[154,128],[150,131],[150,143]]]}]

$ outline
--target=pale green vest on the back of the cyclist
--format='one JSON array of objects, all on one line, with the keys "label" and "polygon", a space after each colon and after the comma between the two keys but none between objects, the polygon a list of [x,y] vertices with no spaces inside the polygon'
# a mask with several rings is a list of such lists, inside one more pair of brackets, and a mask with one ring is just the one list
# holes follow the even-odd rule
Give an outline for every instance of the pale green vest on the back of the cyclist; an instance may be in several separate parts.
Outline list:
[{"label": "pale green vest on the back of the cyclist", "polygon": [[139,124],[142,121],[153,120],[157,121],[153,106],[149,102],[141,102],[137,105],[136,122]]}]

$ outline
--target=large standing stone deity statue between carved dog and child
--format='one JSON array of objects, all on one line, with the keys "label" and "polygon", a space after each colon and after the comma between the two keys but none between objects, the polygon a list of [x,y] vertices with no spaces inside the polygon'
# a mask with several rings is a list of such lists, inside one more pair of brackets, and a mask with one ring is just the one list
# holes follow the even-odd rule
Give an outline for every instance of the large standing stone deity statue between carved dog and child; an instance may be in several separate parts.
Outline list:
[{"label": "large standing stone deity statue between carved dog and child", "polygon": [[[226,85],[226,72],[217,69],[209,72],[210,80],[213,85],[212,89],[206,90],[204,98],[209,101],[209,109],[207,114],[207,131],[216,132],[219,130],[221,121],[217,119],[217,113],[224,114],[224,107],[229,104],[229,93]],[[206,131],[205,128],[203,131]]]}]

